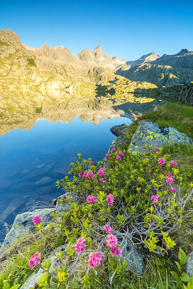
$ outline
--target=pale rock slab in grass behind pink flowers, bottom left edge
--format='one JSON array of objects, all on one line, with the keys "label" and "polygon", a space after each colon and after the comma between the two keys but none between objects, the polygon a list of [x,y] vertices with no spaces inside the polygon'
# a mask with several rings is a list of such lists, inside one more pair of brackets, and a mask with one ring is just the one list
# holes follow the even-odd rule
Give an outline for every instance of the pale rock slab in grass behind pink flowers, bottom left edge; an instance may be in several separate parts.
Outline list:
[{"label": "pale rock slab in grass behind pink flowers, bottom left edge", "polygon": [[[61,267],[60,260],[55,256],[58,254],[59,251],[64,251],[66,245],[62,245],[60,247],[57,247],[54,249],[51,253],[50,256],[48,257],[48,261],[52,261],[51,266],[49,268],[50,272],[51,271],[56,271]],[[43,263],[44,264],[44,263]],[[38,281],[40,275],[45,275],[45,273],[42,273],[42,268],[39,269],[38,273],[32,273],[29,278],[25,281],[25,283],[21,286],[20,289],[29,289],[34,288],[34,284]]]}]

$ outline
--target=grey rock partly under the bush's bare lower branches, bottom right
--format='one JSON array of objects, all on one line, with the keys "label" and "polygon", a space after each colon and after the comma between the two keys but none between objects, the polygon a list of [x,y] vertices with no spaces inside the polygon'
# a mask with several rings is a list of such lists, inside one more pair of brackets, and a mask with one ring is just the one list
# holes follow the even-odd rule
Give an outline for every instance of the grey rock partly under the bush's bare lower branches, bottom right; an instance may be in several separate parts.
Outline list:
[{"label": "grey rock partly under the bush's bare lower branches, bottom right", "polygon": [[143,255],[138,251],[134,243],[127,244],[127,247],[122,252],[123,260],[127,262],[127,268],[134,271],[137,275],[144,270]]}]

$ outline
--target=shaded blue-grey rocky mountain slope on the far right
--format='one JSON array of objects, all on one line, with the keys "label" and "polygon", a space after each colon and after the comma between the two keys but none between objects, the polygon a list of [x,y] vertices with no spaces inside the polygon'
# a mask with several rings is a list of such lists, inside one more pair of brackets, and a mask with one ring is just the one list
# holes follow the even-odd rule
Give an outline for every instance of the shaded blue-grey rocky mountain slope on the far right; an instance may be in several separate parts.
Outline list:
[{"label": "shaded blue-grey rocky mountain slope on the far right", "polygon": [[175,55],[164,54],[154,60],[143,56],[139,61],[118,66],[115,73],[131,81],[146,81],[157,86],[186,84],[193,80],[193,51],[182,49]]}]

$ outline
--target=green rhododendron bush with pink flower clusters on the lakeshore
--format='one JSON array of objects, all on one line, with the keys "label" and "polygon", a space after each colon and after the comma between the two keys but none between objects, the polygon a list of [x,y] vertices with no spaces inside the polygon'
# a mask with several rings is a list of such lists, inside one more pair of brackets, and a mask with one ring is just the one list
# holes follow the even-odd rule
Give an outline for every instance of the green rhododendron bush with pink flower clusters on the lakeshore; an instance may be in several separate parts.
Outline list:
[{"label": "green rhododendron bush with pink flower clusters on the lakeshore", "polygon": [[[183,183],[178,164],[163,155],[162,148],[145,148],[146,153],[137,156],[112,149],[105,168],[78,154],[70,164],[73,179],[57,181],[67,196],[62,202],[70,203],[71,209],[66,218],[64,212],[52,214],[57,229],[53,223],[44,229],[39,222],[36,227],[43,234],[66,236],[65,253],[60,253],[68,270],[65,278],[74,277],[89,288],[89,271],[109,270],[111,282],[127,266],[122,252],[130,242],[162,256],[175,246],[170,236],[182,217],[192,213],[187,204],[193,185]],[[80,262],[87,272],[79,269]]]}]

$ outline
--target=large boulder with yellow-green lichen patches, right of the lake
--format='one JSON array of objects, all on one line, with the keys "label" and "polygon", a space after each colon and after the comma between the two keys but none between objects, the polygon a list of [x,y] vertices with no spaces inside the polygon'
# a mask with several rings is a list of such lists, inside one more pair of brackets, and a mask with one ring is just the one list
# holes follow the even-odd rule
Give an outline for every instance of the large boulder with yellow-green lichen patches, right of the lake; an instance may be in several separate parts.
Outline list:
[{"label": "large boulder with yellow-green lichen patches, right of the lake", "polygon": [[144,145],[152,145],[153,148],[163,147],[168,143],[168,138],[161,134],[161,129],[152,122],[143,122],[138,125],[131,139],[129,149],[133,154],[146,152]]}]

